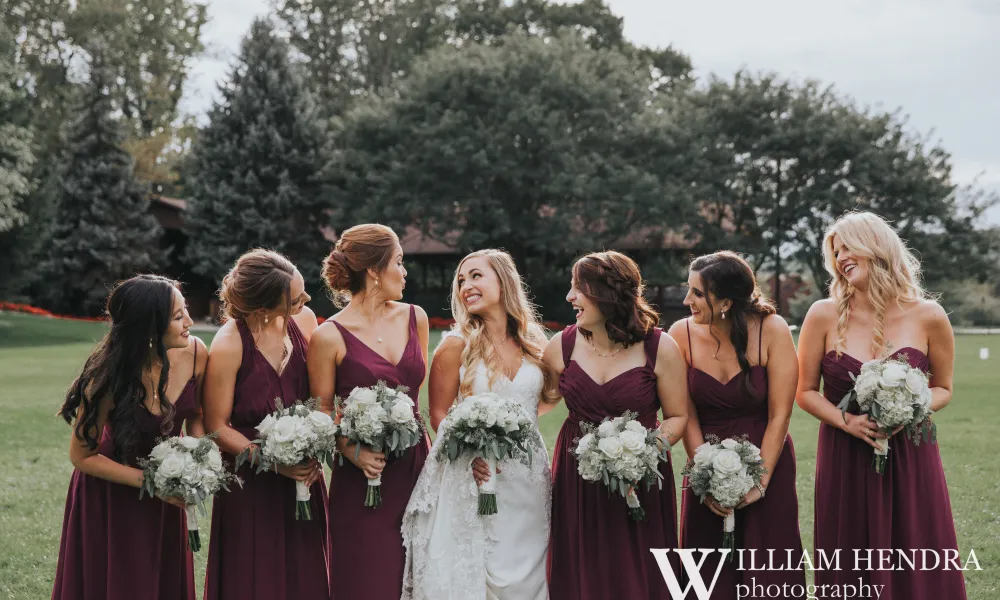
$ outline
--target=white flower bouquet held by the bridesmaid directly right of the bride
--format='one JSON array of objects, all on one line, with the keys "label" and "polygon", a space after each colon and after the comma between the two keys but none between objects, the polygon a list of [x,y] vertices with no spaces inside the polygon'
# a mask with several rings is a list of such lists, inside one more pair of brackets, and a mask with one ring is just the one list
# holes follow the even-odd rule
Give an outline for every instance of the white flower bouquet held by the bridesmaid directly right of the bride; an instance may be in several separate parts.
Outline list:
[{"label": "white flower bouquet held by the bridesmaid directly right of the bride", "polygon": [[646,511],[635,493],[640,483],[648,490],[654,483],[662,488],[659,465],[668,458],[669,445],[658,429],[646,429],[626,412],[600,425],[580,423],[583,436],[574,440],[578,471],[586,481],[599,481],[625,498],[629,514],[636,521],[646,519]]}]

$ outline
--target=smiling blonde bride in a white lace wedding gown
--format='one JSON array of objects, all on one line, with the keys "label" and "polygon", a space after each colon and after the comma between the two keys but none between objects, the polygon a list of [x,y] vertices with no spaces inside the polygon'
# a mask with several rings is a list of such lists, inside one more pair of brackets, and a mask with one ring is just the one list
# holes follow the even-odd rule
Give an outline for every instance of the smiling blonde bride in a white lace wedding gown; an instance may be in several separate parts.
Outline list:
[{"label": "smiling blonde bride in a white lace wedding gown", "polygon": [[[517,400],[535,421],[557,398],[542,367],[545,334],[510,255],[480,250],[459,263],[452,283],[455,326],[431,363],[431,426],[437,442],[448,409],[492,391]],[[549,383],[547,385],[547,383]],[[545,600],[552,484],[548,453],[538,434],[531,466],[501,463],[498,514],[479,516],[477,483],[489,479],[481,459],[448,462],[431,449],[403,516],[406,567],[403,600]]]}]

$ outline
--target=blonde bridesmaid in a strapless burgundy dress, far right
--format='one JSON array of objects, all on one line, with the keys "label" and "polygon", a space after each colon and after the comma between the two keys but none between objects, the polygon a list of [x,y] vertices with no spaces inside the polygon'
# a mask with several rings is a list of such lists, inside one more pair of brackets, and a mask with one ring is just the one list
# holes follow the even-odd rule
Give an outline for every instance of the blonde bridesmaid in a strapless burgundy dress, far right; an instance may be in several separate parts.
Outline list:
[{"label": "blonde bridesmaid in a strapless burgundy dress, far right", "polygon": [[[841,217],[823,240],[830,299],[812,305],[799,338],[799,406],[819,419],[816,452],[817,551],[840,551],[840,571],[816,571],[816,584],[881,585],[882,600],[965,598],[957,570],[855,570],[854,551],[957,551],[951,501],[937,444],[891,436],[884,475],[872,468],[874,438],[865,415],[837,403],[851,375],[876,357],[902,358],[931,374],[931,409],[951,401],[955,338],[948,315],[928,300],[920,264],[895,231],[872,213]],[[820,377],[823,392],[820,393]],[[918,553],[919,556],[919,553]],[[877,554],[875,554],[877,558]],[[877,560],[872,561],[878,565]],[[894,563],[895,564],[895,563]],[[919,565],[917,565],[919,566]]]}]

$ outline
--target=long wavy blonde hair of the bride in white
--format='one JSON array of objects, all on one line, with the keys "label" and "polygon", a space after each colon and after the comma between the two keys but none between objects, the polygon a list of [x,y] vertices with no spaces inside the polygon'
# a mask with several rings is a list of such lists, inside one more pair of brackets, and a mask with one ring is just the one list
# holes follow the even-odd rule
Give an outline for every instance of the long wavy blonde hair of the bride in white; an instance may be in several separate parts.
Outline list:
[{"label": "long wavy blonde hair of the bride in white", "polygon": [[503,250],[486,249],[477,250],[458,263],[455,269],[455,278],[451,284],[451,314],[455,319],[452,331],[461,335],[465,340],[465,349],[462,350],[462,364],[465,366],[465,376],[459,384],[459,392],[462,396],[472,395],[472,385],[475,380],[475,369],[477,361],[485,363],[487,372],[490,374],[490,386],[495,383],[497,374],[503,372],[500,355],[494,346],[494,340],[490,339],[486,330],[486,321],[479,315],[469,312],[462,302],[458,275],[462,270],[462,265],[470,258],[486,258],[490,268],[497,274],[500,281],[500,302],[507,313],[507,335],[515,340],[521,347],[525,359],[542,370],[545,376],[545,386],[543,387],[545,402],[556,402],[558,396],[549,397],[554,392],[551,386],[551,373],[542,363],[542,353],[548,338],[545,329],[538,318],[538,313],[534,305],[528,300],[528,294],[524,289],[524,281],[517,272],[514,259]]}]

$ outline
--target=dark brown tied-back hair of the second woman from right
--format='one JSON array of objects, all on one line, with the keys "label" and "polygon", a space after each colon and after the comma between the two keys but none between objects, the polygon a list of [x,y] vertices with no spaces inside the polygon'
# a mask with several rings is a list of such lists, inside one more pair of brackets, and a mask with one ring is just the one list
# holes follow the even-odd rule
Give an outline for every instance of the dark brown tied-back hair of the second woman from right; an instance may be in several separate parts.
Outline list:
[{"label": "dark brown tied-back hair of the second woman from right", "polygon": [[[691,271],[701,276],[705,291],[719,300],[730,300],[732,306],[727,311],[726,318],[730,320],[732,329],[729,341],[736,349],[736,360],[743,372],[743,389],[751,397],[759,398],[750,378],[750,360],[747,358],[747,346],[750,344],[750,328],[748,322],[752,318],[760,319],[760,327],[764,327],[764,318],[775,313],[774,305],[760,291],[753,269],[742,256],[729,250],[699,256],[691,261]],[[715,320],[715,309],[712,300],[705,294],[708,303],[710,319]],[[712,324],[709,322],[709,325]],[[709,329],[711,331],[711,328]],[[715,334],[712,334],[715,337]],[[715,339],[717,348],[722,342]]]}]

